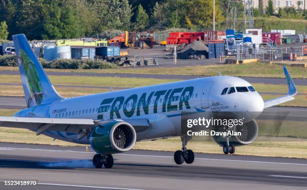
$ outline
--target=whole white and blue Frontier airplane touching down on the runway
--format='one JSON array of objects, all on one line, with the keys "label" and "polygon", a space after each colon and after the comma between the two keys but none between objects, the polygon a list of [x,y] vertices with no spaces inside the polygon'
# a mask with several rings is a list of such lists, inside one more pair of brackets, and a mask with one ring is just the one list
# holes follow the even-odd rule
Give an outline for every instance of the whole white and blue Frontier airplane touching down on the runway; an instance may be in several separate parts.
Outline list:
[{"label": "whole white and blue Frontier airplane touching down on the runway", "polygon": [[97,168],[113,166],[113,153],[130,150],[136,141],[181,136],[177,164],[192,163],[194,153],[181,135],[182,111],[246,113],[248,137],[233,136],[231,143],[217,141],[224,153],[235,145],[251,143],[257,136],[254,120],[264,108],[294,99],[296,87],[286,69],[287,95],[263,101],[252,85],[238,77],[212,76],[105,93],[64,98],[48,79],[24,34],[13,35],[28,108],[0,117],[0,126],[27,128],[37,135],[90,144]]}]

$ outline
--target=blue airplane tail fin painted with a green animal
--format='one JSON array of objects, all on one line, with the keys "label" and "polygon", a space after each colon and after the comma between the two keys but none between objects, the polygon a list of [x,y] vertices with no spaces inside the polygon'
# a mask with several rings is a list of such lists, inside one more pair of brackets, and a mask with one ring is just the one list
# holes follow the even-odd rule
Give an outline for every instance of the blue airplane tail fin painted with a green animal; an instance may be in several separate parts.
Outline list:
[{"label": "blue airplane tail fin painted with a green animal", "polygon": [[28,107],[63,99],[50,82],[25,34],[13,35]]}]

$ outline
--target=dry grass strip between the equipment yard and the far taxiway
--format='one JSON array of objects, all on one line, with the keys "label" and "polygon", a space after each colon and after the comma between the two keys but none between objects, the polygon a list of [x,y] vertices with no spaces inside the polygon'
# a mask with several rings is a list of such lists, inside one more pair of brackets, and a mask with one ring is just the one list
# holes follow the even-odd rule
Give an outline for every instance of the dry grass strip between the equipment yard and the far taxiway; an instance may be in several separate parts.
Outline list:
[{"label": "dry grass strip between the equipment yard and the far taxiway", "polygon": [[[307,78],[307,67],[287,67],[293,78]],[[0,70],[18,70],[18,67],[0,67]],[[277,77],[284,78],[281,64],[247,63],[247,64],[211,64],[178,67],[137,67],[116,69],[45,69],[56,72],[94,72],[94,73],[142,73],[142,74],[183,74],[183,75],[223,75]]]}]

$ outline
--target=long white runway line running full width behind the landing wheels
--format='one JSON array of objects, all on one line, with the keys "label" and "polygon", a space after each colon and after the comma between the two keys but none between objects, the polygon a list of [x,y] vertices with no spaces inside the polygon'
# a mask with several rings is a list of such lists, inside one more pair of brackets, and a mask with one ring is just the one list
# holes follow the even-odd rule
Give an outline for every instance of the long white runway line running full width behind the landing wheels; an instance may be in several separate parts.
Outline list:
[{"label": "long white runway line running full width behind the landing wheels", "polygon": [[[12,149],[27,149],[27,150],[42,150],[42,151],[59,151],[59,152],[77,152],[77,153],[95,153],[91,151],[74,151],[74,150],[51,150],[51,149],[39,149],[39,148],[16,148],[16,147],[0,147],[0,148],[11,148]],[[145,156],[145,157],[170,157],[168,155],[144,155],[144,154],[128,154],[128,153],[117,153],[118,155],[130,155],[130,156]],[[276,163],[276,164],[288,164],[288,165],[307,165],[306,163],[287,163],[287,162],[273,162],[273,161],[250,161],[250,160],[239,160],[239,159],[215,159],[215,158],[202,158],[196,157],[195,159],[202,160],[219,160],[219,161],[237,161],[237,162],[250,162],[250,163]]]}]

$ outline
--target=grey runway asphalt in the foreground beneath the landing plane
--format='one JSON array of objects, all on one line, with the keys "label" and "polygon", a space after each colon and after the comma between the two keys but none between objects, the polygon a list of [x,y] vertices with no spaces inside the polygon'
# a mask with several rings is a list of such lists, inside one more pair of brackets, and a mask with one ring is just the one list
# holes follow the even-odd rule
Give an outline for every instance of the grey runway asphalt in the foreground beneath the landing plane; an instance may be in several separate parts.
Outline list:
[{"label": "grey runway asphalt in the foreground beneath the landing plane", "polygon": [[90,147],[0,143],[0,180],[38,180],[28,189],[45,190],[307,187],[305,159],[196,153],[194,163],[177,165],[173,154],[130,150],[113,154],[113,168],[97,169]]}]

